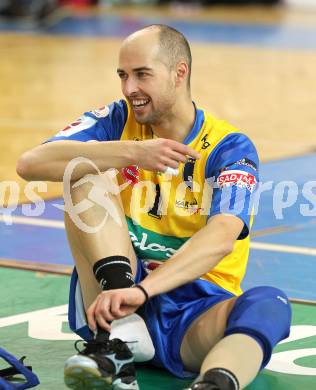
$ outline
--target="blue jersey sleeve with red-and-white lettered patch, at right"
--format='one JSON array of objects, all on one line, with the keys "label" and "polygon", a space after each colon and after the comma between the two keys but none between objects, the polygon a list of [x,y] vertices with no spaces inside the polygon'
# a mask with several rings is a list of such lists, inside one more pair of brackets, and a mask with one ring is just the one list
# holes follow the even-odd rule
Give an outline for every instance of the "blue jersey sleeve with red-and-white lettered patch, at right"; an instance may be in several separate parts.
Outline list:
[{"label": "blue jersey sleeve with red-and-white lettered patch, at right", "polygon": [[255,146],[244,134],[224,138],[209,156],[206,179],[213,186],[209,217],[231,214],[244,222],[238,239],[248,236],[254,194],[259,183],[259,159]]}]

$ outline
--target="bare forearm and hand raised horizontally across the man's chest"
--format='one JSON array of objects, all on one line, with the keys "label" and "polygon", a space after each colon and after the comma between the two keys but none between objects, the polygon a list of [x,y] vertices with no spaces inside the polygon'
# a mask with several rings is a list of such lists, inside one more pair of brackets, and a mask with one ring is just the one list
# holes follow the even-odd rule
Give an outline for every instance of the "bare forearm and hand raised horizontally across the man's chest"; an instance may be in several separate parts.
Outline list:
[{"label": "bare forearm and hand raised horizontally across the man's chest", "polygon": [[[101,172],[131,164],[164,172],[168,166],[177,168],[179,162],[185,162],[186,155],[199,158],[199,154],[187,145],[164,138],[147,141],[56,141],[25,152],[18,160],[17,173],[25,180],[62,181],[67,164],[79,156],[91,160]],[[80,164],[72,180],[88,173],[95,173],[93,166]]]}]

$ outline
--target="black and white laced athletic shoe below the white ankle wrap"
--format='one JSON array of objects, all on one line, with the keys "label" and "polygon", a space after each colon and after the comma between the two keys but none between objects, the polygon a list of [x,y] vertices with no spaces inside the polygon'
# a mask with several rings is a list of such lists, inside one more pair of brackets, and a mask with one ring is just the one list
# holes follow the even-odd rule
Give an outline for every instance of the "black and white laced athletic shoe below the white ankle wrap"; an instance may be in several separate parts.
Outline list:
[{"label": "black and white laced athletic shoe below the white ankle wrap", "polygon": [[64,378],[67,387],[75,390],[139,390],[134,357],[120,339],[95,339],[84,343],[77,355],[65,363]]}]

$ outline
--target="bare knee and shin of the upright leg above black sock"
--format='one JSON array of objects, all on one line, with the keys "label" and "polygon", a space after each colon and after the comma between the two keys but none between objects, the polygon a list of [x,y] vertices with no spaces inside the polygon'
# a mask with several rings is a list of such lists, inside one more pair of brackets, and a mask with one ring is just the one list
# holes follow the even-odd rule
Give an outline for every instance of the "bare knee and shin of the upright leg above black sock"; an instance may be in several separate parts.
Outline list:
[{"label": "bare knee and shin of the upright leg above black sock", "polygon": [[[98,177],[97,180],[101,181],[102,179]],[[100,182],[100,186],[101,184]],[[73,204],[88,199],[88,194],[93,185],[86,183],[73,188],[71,190]],[[121,226],[111,216],[108,216],[106,223],[96,233],[86,233],[79,229],[65,213],[67,238],[78,271],[86,309],[101,292],[92,269],[96,261],[108,256],[120,255],[130,260],[134,276],[137,269],[136,255],[128,233],[120,196],[111,194],[108,196],[113,206],[116,207],[122,222]],[[104,207],[95,204],[90,209],[82,212],[80,218],[87,225],[95,227],[104,220],[106,213]]]}]

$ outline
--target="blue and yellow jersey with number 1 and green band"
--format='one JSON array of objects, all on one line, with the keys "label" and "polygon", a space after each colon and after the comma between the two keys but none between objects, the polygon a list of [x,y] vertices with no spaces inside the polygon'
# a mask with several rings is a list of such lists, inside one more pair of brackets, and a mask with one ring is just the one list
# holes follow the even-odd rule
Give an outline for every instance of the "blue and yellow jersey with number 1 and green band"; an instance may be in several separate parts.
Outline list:
[{"label": "blue and yellow jersey with number 1 and green band", "polygon": [[[117,141],[155,138],[135,121],[121,100],[85,113],[49,141]],[[199,160],[180,164],[170,175],[129,166],[118,173],[121,198],[135,252],[145,263],[166,261],[216,214],[241,218],[244,228],[233,252],[203,276],[239,295],[249,254],[253,194],[258,156],[249,138],[225,121],[196,108],[193,128],[183,141]]]}]

